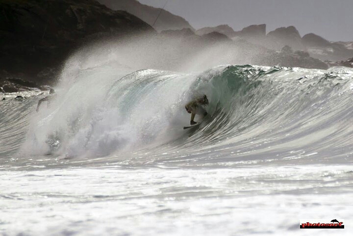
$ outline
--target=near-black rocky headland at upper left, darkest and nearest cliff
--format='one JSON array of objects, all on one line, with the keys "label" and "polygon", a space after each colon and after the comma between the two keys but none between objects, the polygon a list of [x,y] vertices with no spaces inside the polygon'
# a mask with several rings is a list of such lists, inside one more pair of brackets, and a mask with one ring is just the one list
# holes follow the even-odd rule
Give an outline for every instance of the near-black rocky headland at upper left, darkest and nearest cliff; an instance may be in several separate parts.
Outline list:
[{"label": "near-black rocky headland at upper left, darkest and nearest cliff", "polygon": [[72,50],[95,38],[153,31],[95,0],[0,0],[0,77],[50,83]]}]

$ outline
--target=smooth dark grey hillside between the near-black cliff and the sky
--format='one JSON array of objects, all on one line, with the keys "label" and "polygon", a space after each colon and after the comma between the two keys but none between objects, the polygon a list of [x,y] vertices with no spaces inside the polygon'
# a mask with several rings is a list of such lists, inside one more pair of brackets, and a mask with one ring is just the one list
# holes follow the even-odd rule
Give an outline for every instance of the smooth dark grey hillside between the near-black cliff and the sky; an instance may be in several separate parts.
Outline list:
[{"label": "smooth dark grey hillside between the near-black cliff and the sky", "polygon": [[[124,10],[128,13],[137,16],[141,20],[145,21],[149,25],[154,24],[154,28],[157,31],[169,30],[169,29],[183,29],[190,28],[194,31],[194,28],[182,17],[176,16],[169,11],[162,10],[161,8],[151,7],[145,4],[141,4],[137,0],[98,0],[102,4],[113,10]],[[157,19],[157,16],[158,20]]]}]

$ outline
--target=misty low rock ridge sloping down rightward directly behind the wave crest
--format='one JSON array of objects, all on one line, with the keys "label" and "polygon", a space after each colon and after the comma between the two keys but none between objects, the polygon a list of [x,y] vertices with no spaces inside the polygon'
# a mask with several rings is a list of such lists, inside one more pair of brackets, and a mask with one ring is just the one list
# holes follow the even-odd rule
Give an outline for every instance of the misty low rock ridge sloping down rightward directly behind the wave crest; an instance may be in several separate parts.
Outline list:
[{"label": "misty low rock ridge sloping down rightward directly behind the wave crest", "polygon": [[[162,31],[160,36],[171,37],[179,44],[176,47],[183,58],[177,58],[174,65],[184,62],[185,58],[202,54],[202,59],[213,64],[254,64],[266,66],[303,67],[327,69],[328,65],[319,59],[313,58],[308,52],[293,51],[289,46],[283,50],[270,50],[258,44],[252,44],[244,38],[229,39],[225,34],[212,31],[202,36],[191,30]],[[159,44],[168,42],[160,39]],[[166,47],[167,48],[167,47]],[[178,53],[171,53],[174,56]],[[210,63],[210,64],[212,64]]]}]

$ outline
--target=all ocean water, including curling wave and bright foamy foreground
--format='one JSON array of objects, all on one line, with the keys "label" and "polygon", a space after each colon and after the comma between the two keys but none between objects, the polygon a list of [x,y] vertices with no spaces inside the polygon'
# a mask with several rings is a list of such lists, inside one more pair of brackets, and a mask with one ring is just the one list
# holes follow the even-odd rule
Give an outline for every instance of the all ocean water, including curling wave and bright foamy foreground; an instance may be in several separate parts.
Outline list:
[{"label": "all ocean water, including curling wave and bright foamy foreground", "polygon": [[3,236],[352,234],[352,69],[72,59],[55,90],[0,95]]}]

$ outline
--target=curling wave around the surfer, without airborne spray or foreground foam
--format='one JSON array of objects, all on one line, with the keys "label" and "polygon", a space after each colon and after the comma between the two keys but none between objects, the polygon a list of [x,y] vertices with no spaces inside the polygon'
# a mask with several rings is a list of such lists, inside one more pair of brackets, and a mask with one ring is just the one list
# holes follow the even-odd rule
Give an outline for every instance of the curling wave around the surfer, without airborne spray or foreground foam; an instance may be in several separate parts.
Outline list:
[{"label": "curling wave around the surfer, without airborne spray or foreground foam", "polygon": [[[195,74],[119,73],[109,65],[63,73],[49,108],[32,112],[35,97],[13,105],[0,121],[2,133],[7,129],[1,140],[17,141],[2,141],[1,156],[50,154],[50,163],[69,158],[80,165],[351,161],[348,68],[230,65]],[[190,120],[184,105],[202,94],[209,116],[199,129],[182,130]]]}]

